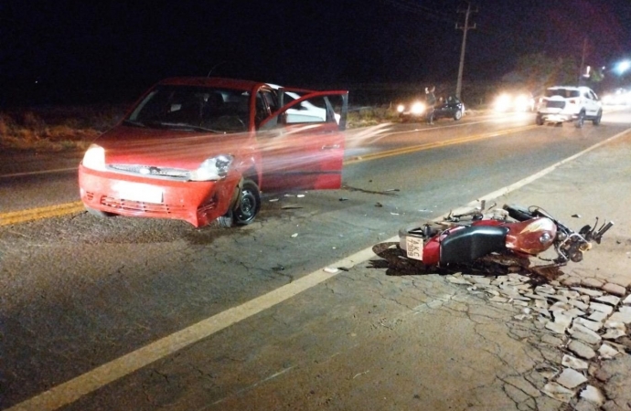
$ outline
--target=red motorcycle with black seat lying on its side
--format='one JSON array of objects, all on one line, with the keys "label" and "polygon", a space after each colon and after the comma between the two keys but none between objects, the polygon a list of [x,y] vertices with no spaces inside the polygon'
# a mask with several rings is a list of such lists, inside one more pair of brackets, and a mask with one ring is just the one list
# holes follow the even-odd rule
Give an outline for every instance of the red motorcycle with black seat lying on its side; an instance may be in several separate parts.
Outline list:
[{"label": "red motorcycle with black seat lying on its side", "polygon": [[[583,253],[600,244],[613,222],[578,232],[563,225],[539,206],[504,205],[485,212],[481,207],[452,214],[439,222],[421,222],[399,231],[399,248],[424,269],[468,270],[490,274],[520,272],[556,279],[568,261],[579,262]],[[556,257],[545,258],[553,249]],[[531,258],[545,264],[532,265]]]}]

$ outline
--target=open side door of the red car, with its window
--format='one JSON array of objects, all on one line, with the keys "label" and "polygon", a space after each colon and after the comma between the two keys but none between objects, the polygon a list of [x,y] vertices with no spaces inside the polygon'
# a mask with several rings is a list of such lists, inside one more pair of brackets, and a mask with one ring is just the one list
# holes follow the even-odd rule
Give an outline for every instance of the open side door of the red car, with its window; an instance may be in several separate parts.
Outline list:
[{"label": "open side door of the red car, with its window", "polygon": [[281,107],[262,121],[262,190],[336,189],[342,184],[348,91],[278,93]]}]

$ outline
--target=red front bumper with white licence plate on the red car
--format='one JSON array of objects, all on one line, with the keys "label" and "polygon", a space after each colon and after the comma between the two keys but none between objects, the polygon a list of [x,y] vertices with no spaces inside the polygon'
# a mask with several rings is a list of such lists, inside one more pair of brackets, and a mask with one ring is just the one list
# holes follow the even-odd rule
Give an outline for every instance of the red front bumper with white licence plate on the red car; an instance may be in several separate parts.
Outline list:
[{"label": "red front bumper with white licence plate on the red car", "polygon": [[226,214],[239,181],[238,175],[191,182],[79,167],[80,197],[86,207],[121,216],[179,219],[194,227]]}]

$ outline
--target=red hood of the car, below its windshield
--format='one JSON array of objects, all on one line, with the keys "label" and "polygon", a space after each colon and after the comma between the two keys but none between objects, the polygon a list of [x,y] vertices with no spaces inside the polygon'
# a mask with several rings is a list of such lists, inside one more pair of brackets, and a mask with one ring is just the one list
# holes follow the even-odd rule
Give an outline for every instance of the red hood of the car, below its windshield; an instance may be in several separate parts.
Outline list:
[{"label": "red hood of the car, below its windshield", "polygon": [[250,133],[208,133],[117,126],[95,143],[105,150],[107,164],[155,165],[194,169],[219,154],[238,155]]}]

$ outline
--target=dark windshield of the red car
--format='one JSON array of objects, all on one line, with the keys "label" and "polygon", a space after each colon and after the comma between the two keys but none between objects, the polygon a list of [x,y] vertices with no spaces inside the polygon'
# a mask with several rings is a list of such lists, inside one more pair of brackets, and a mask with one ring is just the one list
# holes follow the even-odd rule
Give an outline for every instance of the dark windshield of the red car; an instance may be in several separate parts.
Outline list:
[{"label": "dark windshield of the red car", "polygon": [[137,127],[194,132],[244,132],[250,93],[243,90],[162,85],[151,90],[125,123]]}]

